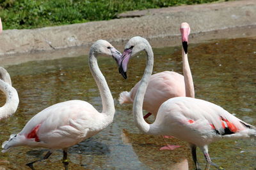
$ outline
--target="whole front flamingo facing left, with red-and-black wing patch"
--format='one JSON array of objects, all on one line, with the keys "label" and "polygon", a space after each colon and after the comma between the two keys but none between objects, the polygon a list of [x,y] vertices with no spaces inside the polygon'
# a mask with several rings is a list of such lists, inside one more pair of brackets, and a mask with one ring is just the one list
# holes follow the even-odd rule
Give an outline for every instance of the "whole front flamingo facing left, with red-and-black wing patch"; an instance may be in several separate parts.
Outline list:
[{"label": "whole front flamingo facing left, with red-and-black wing patch", "polygon": [[196,147],[204,153],[209,166],[218,169],[223,167],[214,164],[208,153],[208,145],[220,139],[236,139],[256,137],[256,127],[228,113],[220,106],[192,97],[173,97],[161,104],[156,120],[148,124],[143,118],[143,97],[145,95],[150,75],[152,74],[154,55],[147,39],[136,36],[125,45],[120,61],[120,72],[125,74],[131,55],[145,50],[147,53],[147,66],[134,99],[132,113],[138,129],[145,134],[171,135],[189,143],[193,162],[198,169]]}]

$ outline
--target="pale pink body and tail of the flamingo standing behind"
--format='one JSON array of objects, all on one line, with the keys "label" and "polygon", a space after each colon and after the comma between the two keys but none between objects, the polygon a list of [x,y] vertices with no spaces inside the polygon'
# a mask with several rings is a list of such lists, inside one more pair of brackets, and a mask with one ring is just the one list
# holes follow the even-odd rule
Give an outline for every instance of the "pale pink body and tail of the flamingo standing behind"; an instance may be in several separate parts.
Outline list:
[{"label": "pale pink body and tail of the flamingo standing behind", "polygon": [[[140,81],[134,85],[130,92],[120,94],[119,103],[133,103]],[[152,74],[148,83],[143,101],[143,110],[156,113],[164,101],[178,96],[186,96],[184,76],[174,71],[163,71]]]}]

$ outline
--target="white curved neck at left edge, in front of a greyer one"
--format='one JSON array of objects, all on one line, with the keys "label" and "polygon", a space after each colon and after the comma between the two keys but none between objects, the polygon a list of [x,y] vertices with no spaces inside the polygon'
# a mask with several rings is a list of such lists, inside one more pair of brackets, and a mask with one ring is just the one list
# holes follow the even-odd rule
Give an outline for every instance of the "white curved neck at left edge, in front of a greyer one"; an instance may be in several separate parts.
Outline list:
[{"label": "white curved neck at left edge, in front of a greyer one", "polygon": [[19,96],[17,91],[3,80],[0,80],[0,90],[3,91],[6,96],[6,103],[0,108],[1,120],[15,113],[19,105]]}]

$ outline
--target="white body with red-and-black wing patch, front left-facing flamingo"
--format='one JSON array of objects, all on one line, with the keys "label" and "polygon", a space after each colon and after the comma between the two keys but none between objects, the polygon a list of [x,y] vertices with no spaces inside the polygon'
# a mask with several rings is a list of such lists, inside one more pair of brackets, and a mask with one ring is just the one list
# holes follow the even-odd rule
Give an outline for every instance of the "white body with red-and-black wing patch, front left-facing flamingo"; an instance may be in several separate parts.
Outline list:
[{"label": "white body with red-and-black wing patch, front left-facing flamingo", "polygon": [[[159,114],[158,114],[159,113]],[[193,143],[209,145],[222,138],[249,138],[256,128],[220,106],[191,97],[175,97],[164,102],[152,127],[161,133]]]}]

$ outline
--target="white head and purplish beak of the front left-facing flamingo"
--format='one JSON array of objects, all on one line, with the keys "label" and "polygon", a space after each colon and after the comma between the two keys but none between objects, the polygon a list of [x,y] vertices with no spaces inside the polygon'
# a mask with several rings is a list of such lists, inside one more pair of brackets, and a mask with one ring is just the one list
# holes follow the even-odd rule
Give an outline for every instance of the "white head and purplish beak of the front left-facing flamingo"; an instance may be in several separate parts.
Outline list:
[{"label": "white head and purplish beak of the front left-facing flamingo", "polygon": [[122,74],[125,79],[127,78],[127,65],[131,56],[142,50],[145,50],[148,48],[148,46],[150,45],[147,39],[140,36],[134,36],[125,45],[124,52],[122,53],[121,59],[119,60],[120,62],[118,62],[119,73]]}]

